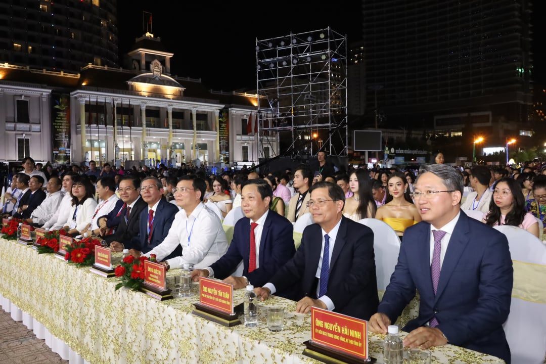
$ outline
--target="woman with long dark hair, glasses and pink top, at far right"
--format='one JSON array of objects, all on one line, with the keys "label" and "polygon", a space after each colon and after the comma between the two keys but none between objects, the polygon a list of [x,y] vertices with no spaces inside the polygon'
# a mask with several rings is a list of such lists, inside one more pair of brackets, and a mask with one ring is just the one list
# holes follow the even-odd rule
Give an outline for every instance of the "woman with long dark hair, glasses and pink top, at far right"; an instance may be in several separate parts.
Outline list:
[{"label": "woman with long dark hair, glasses and pink top, at far right", "polygon": [[495,184],[489,212],[484,216],[483,222],[489,226],[518,226],[539,237],[538,221],[525,210],[521,188],[510,177],[503,177]]}]

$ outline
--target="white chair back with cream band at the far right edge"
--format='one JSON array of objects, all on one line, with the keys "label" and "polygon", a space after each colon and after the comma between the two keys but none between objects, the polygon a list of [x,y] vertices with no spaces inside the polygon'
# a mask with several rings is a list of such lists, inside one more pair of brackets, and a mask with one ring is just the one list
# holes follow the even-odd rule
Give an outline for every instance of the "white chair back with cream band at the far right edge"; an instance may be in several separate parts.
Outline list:
[{"label": "white chair back with cream band at the far right edge", "polygon": [[546,354],[546,246],[518,226],[494,226],[508,239],[514,285],[508,319],[503,325],[512,362],[539,364]]}]

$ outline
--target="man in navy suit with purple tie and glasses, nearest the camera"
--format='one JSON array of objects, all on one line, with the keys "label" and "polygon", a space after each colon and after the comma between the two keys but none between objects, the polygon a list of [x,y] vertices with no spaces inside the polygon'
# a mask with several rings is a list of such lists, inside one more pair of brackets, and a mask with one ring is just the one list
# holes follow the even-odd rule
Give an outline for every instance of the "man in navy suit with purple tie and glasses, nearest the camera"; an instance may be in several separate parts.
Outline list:
[{"label": "man in navy suit with purple tie and glasses, nearest the camera", "polygon": [[403,330],[410,348],[447,343],[510,362],[502,324],[510,311],[513,269],[501,232],[460,211],[459,171],[422,166],[413,197],[423,222],[406,229],[398,263],[378,308],[372,332],[387,332],[416,294],[419,316]]}]

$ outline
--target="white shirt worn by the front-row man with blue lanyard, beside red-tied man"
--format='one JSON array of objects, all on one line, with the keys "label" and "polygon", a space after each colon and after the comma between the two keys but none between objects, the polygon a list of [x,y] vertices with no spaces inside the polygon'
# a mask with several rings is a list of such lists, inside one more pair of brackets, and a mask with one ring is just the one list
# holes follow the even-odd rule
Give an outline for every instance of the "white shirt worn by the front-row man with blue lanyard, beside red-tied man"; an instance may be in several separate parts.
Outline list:
[{"label": "white shirt worn by the front-row man with blue lanyard, beside red-tied man", "polygon": [[183,209],[177,212],[165,240],[144,255],[156,254],[157,261],[163,261],[178,244],[182,246],[182,255],[168,260],[171,268],[181,268],[183,264],[193,265],[194,269],[205,268],[228,250],[222,222],[203,202],[189,217]]}]

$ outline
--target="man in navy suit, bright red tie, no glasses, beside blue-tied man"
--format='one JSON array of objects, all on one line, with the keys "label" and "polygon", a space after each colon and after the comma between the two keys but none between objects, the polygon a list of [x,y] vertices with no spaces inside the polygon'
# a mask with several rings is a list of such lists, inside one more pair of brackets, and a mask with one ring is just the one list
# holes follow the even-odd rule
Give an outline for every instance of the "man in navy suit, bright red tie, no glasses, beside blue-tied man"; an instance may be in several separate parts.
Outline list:
[{"label": "man in navy suit, bright red tie, no glasses, beside blue-tied man", "polygon": [[[294,228],[286,218],[269,210],[272,195],[271,186],[262,178],[242,183],[241,207],[245,217],[235,224],[228,251],[210,267],[194,270],[193,281],[214,276],[233,284],[235,289],[247,284],[258,287],[292,258]],[[231,276],[241,260],[242,277]]]}]

